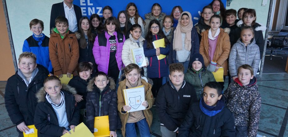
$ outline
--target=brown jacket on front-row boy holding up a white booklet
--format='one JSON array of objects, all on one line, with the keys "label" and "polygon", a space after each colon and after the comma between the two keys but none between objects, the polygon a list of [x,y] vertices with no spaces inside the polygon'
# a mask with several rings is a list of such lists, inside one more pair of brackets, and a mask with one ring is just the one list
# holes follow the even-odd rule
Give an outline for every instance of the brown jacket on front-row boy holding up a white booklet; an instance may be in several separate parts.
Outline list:
[{"label": "brown jacket on front-row boy holding up a white booklet", "polygon": [[[124,100],[124,95],[123,95],[123,89],[126,89],[126,80],[124,79],[123,81],[119,82],[119,87],[118,87],[118,91],[117,91],[117,96],[118,96],[118,111],[120,112],[120,119],[121,119],[121,123],[122,123],[122,135],[123,137],[125,137],[125,126],[129,117],[129,113],[123,113],[123,106],[125,105],[125,100]],[[152,124],[152,120],[153,120],[153,114],[151,112],[151,108],[152,105],[154,104],[154,98],[151,92],[151,88],[152,86],[147,83],[144,79],[141,79],[141,83],[144,86],[145,89],[145,100],[148,102],[148,108],[143,110],[144,116],[147,120],[147,123],[149,125],[149,129],[150,126]]]}]

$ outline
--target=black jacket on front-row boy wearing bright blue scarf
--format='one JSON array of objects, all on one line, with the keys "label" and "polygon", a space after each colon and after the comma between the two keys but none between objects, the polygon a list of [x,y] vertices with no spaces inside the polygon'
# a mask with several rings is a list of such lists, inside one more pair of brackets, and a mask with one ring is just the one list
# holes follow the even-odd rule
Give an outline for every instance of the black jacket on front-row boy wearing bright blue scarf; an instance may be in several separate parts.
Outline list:
[{"label": "black jacket on front-row boy wearing bright blue scarf", "polygon": [[[221,100],[225,102],[224,97]],[[225,107],[225,103],[223,109],[214,116],[203,113],[200,103],[193,104],[188,110],[179,128],[178,137],[235,137],[234,117],[232,112]]]}]

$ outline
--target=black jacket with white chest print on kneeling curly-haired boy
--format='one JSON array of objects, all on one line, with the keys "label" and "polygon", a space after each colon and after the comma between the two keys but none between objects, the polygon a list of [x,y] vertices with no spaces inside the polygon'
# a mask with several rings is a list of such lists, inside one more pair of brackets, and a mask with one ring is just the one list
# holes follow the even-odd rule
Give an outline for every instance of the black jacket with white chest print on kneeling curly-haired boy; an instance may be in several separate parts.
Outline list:
[{"label": "black jacket with white chest print on kneeling curly-haired boy", "polygon": [[169,80],[159,89],[156,98],[156,110],[161,126],[176,132],[189,107],[194,102],[198,102],[198,100],[196,91],[190,83],[184,80],[177,92],[175,86]]}]

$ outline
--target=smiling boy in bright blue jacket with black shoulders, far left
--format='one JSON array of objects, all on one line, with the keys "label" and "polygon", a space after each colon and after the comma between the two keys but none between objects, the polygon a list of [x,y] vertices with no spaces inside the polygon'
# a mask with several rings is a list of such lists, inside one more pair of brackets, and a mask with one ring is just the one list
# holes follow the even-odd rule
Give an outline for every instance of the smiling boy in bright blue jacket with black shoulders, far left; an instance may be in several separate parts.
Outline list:
[{"label": "smiling boy in bright blue jacket with black shoulders, far left", "polygon": [[45,36],[42,31],[44,30],[44,23],[39,19],[33,19],[29,23],[32,36],[25,39],[22,51],[32,52],[38,58],[37,64],[43,65],[48,69],[50,76],[52,76],[52,64],[49,59],[49,38]]}]

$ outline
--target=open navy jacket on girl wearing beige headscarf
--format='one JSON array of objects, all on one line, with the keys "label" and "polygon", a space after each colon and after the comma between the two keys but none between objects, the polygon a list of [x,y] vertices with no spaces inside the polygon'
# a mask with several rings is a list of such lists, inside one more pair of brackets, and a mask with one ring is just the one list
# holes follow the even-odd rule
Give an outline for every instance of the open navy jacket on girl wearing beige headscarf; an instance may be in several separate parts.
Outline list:
[{"label": "open navy jacket on girl wearing beige headscarf", "polygon": [[[173,40],[174,40],[174,32],[171,38],[171,48],[170,48],[170,53],[168,56],[168,64],[176,63],[176,50],[173,50]],[[192,28],[191,30],[191,53],[190,53],[190,60],[192,60],[192,56],[195,53],[199,53],[199,47],[200,47],[200,42],[199,42],[199,37],[198,33],[195,27]],[[189,63],[190,65],[190,63]]]}]

